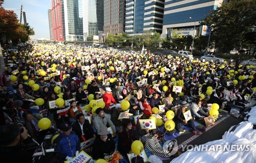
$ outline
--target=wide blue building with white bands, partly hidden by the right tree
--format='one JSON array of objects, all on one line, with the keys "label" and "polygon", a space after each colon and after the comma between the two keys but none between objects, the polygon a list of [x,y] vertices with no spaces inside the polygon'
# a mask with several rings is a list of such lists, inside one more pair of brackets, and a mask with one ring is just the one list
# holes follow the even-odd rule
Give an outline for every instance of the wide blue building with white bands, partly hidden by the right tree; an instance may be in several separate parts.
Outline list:
[{"label": "wide blue building with white bands, partly hidden by the right tree", "polygon": [[199,36],[199,22],[224,2],[227,0],[165,0],[162,37],[170,40],[174,30],[183,36]]}]

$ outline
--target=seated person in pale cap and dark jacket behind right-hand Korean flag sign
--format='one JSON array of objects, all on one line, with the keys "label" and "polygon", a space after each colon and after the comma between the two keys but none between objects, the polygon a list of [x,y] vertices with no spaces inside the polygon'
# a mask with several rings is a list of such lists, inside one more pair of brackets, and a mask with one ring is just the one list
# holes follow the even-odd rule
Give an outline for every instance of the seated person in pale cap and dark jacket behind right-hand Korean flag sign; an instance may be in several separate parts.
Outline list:
[{"label": "seated person in pale cap and dark jacket behind right-hand Korean flag sign", "polygon": [[[184,132],[184,128],[183,128],[183,126],[180,127],[179,124],[187,125],[190,128],[192,128],[194,134],[199,134],[200,135],[200,134],[202,134],[202,132],[197,130],[193,118],[191,118],[188,121],[185,120],[185,117],[184,117],[183,113],[187,112],[187,107],[188,106],[189,106],[189,103],[187,103],[186,101],[182,101],[181,102],[181,105],[178,108],[177,114],[175,116],[175,122],[177,123],[176,129],[179,130],[180,133],[183,133]],[[180,128],[182,128],[182,129],[180,129]]]}]

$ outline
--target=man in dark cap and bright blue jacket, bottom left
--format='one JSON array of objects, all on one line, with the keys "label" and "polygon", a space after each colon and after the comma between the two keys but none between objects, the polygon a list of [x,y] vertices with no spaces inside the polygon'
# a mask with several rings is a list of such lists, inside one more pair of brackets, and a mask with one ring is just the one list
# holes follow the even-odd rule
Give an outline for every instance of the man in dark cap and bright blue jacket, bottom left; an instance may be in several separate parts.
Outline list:
[{"label": "man in dark cap and bright blue jacket, bottom left", "polygon": [[60,125],[60,134],[53,141],[53,145],[59,150],[61,160],[71,160],[77,156],[80,150],[80,140],[74,131],[71,131],[72,126],[65,122]]}]

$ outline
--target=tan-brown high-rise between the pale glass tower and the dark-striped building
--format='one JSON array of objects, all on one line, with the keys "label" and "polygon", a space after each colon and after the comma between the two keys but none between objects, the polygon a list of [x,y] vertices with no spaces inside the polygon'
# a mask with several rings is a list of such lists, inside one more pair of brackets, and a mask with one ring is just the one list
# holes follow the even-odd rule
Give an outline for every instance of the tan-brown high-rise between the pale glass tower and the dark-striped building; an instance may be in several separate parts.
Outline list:
[{"label": "tan-brown high-rise between the pale glass tower and the dark-striped building", "polygon": [[104,34],[124,32],[124,0],[104,0]]}]

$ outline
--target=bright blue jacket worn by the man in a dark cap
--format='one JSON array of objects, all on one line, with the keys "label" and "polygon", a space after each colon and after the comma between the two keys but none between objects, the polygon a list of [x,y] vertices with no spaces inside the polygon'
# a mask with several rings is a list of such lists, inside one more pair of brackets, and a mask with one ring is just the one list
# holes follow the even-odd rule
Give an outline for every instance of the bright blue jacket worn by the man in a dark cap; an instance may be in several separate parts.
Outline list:
[{"label": "bright blue jacket worn by the man in a dark cap", "polygon": [[77,134],[74,131],[70,132],[70,135],[60,133],[60,135],[54,140],[53,144],[57,144],[57,148],[62,158],[74,157],[76,151],[80,151],[80,141]]}]

